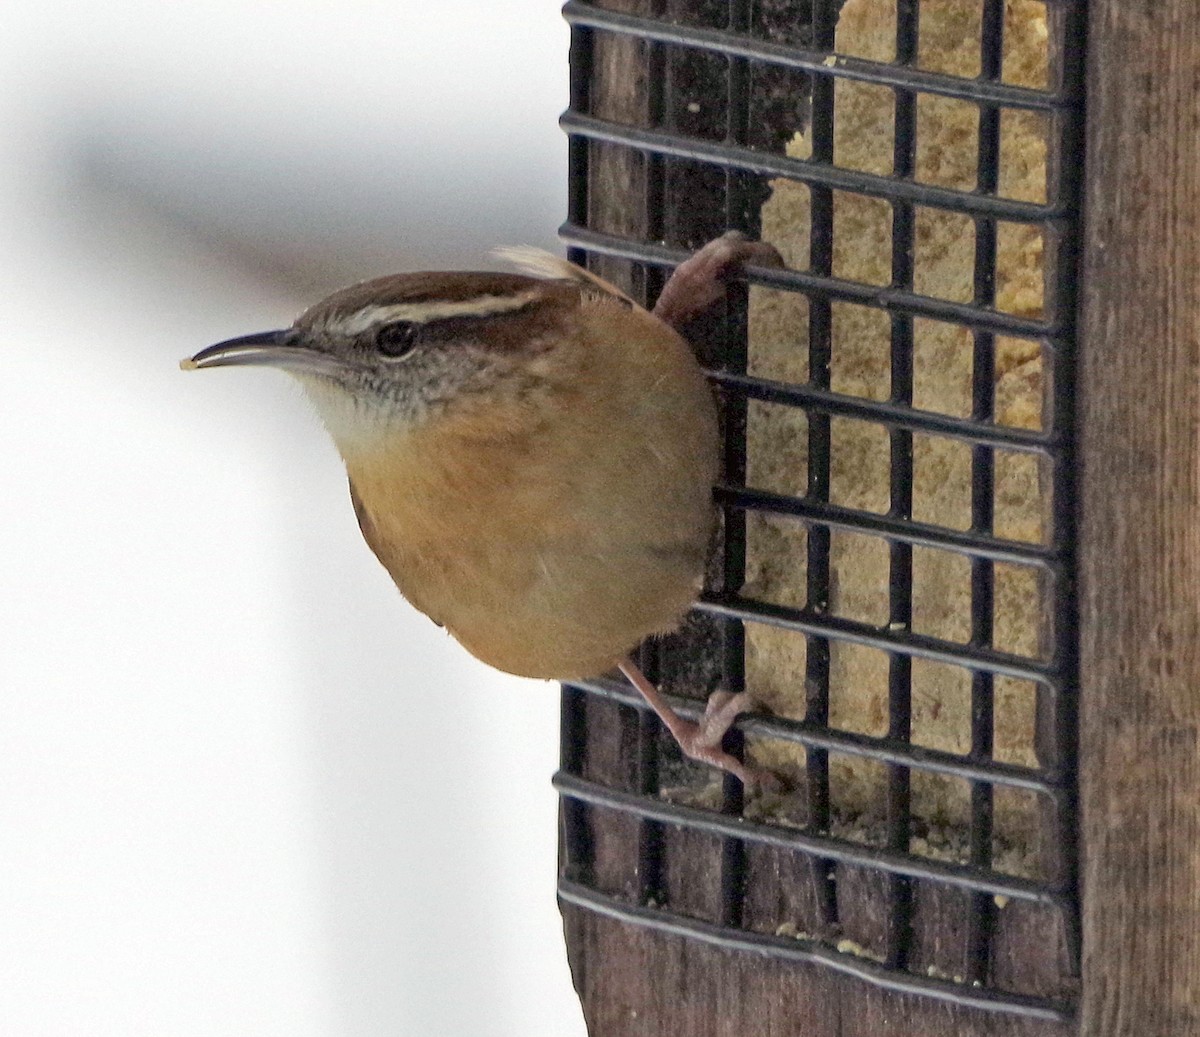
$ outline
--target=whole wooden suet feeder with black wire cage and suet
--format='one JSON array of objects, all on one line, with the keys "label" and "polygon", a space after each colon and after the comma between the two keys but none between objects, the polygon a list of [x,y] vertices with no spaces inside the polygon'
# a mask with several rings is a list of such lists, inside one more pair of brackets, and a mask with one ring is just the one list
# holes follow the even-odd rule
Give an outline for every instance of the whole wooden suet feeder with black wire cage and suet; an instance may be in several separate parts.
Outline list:
[{"label": "whole wooden suet feeder with black wire cage and suet", "polygon": [[692,329],[724,473],[642,665],[563,689],[595,1037],[1200,1032],[1200,30],[1178,0],[572,0],[571,258]]}]

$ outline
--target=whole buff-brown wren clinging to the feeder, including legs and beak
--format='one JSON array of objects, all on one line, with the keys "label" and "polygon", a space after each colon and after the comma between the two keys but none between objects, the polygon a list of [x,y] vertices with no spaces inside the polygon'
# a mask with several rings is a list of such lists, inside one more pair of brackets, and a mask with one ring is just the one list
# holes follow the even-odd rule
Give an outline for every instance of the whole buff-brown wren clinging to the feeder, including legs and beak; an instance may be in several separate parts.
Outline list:
[{"label": "whole buff-brown wren clinging to the feeder, including legs and beak", "polygon": [[654,313],[564,259],[508,256],[528,275],[380,277],[181,366],[299,378],[364,539],[473,655],[558,681],[617,666],[684,753],[755,781],[720,744],[745,695],[714,695],[692,724],[628,653],[695,600],[713,527],[716,414],[676,328],[731,268],[778,253],[726,234],[676,270]]}]

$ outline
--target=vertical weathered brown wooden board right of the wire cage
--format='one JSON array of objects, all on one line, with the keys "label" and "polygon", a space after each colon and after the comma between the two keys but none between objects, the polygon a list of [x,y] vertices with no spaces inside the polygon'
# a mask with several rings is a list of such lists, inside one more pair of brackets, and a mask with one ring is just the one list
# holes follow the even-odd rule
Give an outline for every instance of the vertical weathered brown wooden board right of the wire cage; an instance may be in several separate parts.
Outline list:
[{"label": "vertical weathered brown wooden board right of the wire cage", "polygon": [[1088,1037],[1200,1033],[1200,22],[1093,0],[1080,344]]}]

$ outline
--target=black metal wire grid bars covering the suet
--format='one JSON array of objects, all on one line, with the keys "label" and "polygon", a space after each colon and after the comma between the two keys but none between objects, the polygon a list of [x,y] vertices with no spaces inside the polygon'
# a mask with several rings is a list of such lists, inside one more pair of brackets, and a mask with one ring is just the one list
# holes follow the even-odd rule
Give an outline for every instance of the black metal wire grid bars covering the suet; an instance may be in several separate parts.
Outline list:
[{"label": "black metal wire grid bars covering the suet", "polygon": [[[803,293],[809,300],[809,379],[782,383],[746,373],[744,322],[737,311],[742,296],[731,293],[731,319],[721,364],[710,377],[725,402],[725,481],[716,487],[724,518],[719,589],[706,591],[697,609],[720,623],[721,687],[744,687],[744,624],[769,623],[794,631],[808,642],[808,712],[803,720],[752,717],[738,724],[744,735],[799,743],[805,749],[808,823],[787,828],[740,816],[740,787],[725,780],[720,810],[665,802],[659,798],[656,721],[636,693],[624,685],[594,681],[564,687],[563,756],[556,785],[563,797],[564,867],[560,897],[589,910],[700,939],[732,949],[769,953],[780,959],[823,963],[884,988],[922,994],[979,1008],[1032,1018],[1068,1019],[1069,999],[1036,996],[1001,989],[991,982],[989,959],[995,930],[994,898],[1006,897],[1046,905],[1060,912],[1068,955],[1078,961],[1078,849],[1075,841],[1075,603],[1072,544],[1073,442],[1072,378],[1074,342],[1074,268],[1079,232],[1079,167],[1082,144],[1082,0],[1049,0],[1054,32],[1048,88],[1036,90],[1002,82],[1004,0],[980,0],[983,6],[980,74],[976,79],[943,76],[917,67],[918,0],[896,5],[895,61],[875,62],[839,56],[834,52],[836,0],[812,0],[809,38],[798,47],[749,35],[749,0],[728,0],[724,28],[678,24],[661,17],[640,17],[572,0],[564,14],[571,24],[571,108],[563,116],[570,140],[569,220],[562,236],[571,258],[588,254],[635,260],[649,271],[647,294],[661,287],[662,272],[686,253],[659,241],[662,233],[665,162],[700,162],[725,173],[725,223],[755,232],[748,221],[746,174],[790,178],[810,192],[811,248],[806,271],[754,269],[752,283]],[[712,6],[712,5],[710,5]],[[593,34],[622,34],[649,41],[649,127],[616,124],[590,114]],[[685,136],[665,125],[667,47],[694,48],[725,55],[726,133],[724,140]],[[809,134],[811,157],[784,157],[749,146],[749,62],[768,62],[806,73],[811,90]],[[838,168],[834,161],[834,83],[839,77],[892,88],[895,98],[894,156],[890,176]],[[978,106],[978,180],[971,192],[936,187],[913,179],[917,96],[934,94]],[[1049,116],[1049,185],[1044,203],[997,194],[1000,125],[1003,109],[1026,109]],[[630,240],[588,227],[589,148],[607,142],[646,156],[647,235]],[[833,197],[835,191],[887,199],[892,209],[892,282],[869,286],[834,276]],[[974,224],[974,298],[953,302],[919,294],[913,288],[914,206],[966,214]],[[1048,241],[1044,316],[1030,318],[995,308],[997,221],[1039,224]],[[883,310],[890,320],[890,379],[888,400],[866,400],[834,391],[830,384],[832,305],[851,301]],[[971,415],[958,418],[913,407],[913,320],[929,317],[970,329],[973,341]],[[995,421],[994,360],[998,335],[1037,338],[1049,396],[1040,430],[1002,426]],[[803,496],[787,496],[745,485],[745,420],[748,401],[803,408],[808,419],[808,486]],[[886,514],[854,510],[830,499],[830,419],[857,418],[883,425],[890,446],[890,508]],[[964,531],[913,518],[913,434],[953,437],[971,448],[971,523]],[[1036,455],[1050,473],[1050,541],[1030,544],[998,537],[994,529],[995,454],[997,449]],[[746,514],[763,511],[792,516],[808,528],[808,599],[788,607],[743,597],[746,575]],[[829,615],[830,531],[870,533],[888,545],[888,623],[875,627]],[[932,547],[966,556],[970,562],[971,635],[965,645],[913,633],[913,550]],[[1019,564],[1037,569],[1049,592],[1045,627],[1049,651],[1038,658],[1002,652],[992,646],[995,567]],[[888,727],[884,737],[838,730],[829,724],[830,642],[866,646],[887,653]],[[971,749],[966,755],[913,744],[912,661],[954,664],[971,673]],[[643,664],[654,670],[653,649]],[[997,677],[1036,682],[1039,688],[1040,766],[1025,767],[994,759],[994,682]],[[636,789],[607,787],[583,777],[587,701],[602,699],[642,711],[637,741]],[[684,715],[700,713],[700,703],[673,699]],[[727,743],[728,744],[728,743]],[[734,747],[737,748],[737,745]],[[883,765],[887,771],[886,845],[869,846],[840,839],[830,831],[829,753],[848,754]],[[910,852],[913,769],[953,775],[970,783],[971,826],[967,863],[948,863]],[[994,790],[1008,787],[1038,793],[1050,809],[1046,822],[1061,852],[1051,880],[1019,877],[992,865]],[[601,892],[588,881],[593,852],[588,810],[605,808],[641,821],[636,897]],[[721,837],[721,910],[718,921],[702,921],[662,904],[662,826],[684,826]],[[746,898],[745,847],[775,846],[806,855],[826,876],[818,893],[826,918],[836,918],[839,865],[859,865],[887,876],[887,953],[883,961],[840,954],[817,942],[752,931],[742,925]],[[818,879],[818,885],[821,880]],[[970,894],[967,930],[970,975],[952,982],[910,970],[912,898],[916,883],[938,883]]]}]

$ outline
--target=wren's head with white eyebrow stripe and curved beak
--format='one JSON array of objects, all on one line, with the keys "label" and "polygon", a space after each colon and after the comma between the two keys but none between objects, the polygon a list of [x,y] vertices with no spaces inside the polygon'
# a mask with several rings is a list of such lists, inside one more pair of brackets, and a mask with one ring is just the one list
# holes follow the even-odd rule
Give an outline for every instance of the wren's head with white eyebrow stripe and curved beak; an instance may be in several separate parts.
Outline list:
[{"label": "wren's head with white eyebrow stripe and curved beak", "polygon": [[456,407],[535,394],[578,298],[570,282],[517,274],[400,274],[343,288],[290,328],[218,342],[180,366],[294,374],[349,456]]}]

